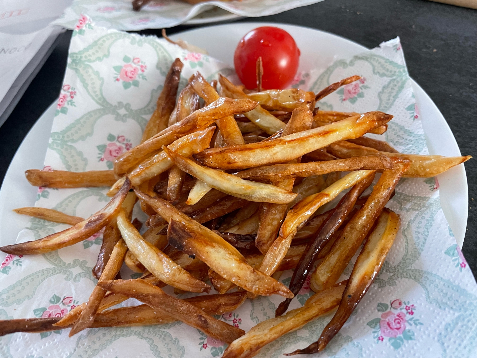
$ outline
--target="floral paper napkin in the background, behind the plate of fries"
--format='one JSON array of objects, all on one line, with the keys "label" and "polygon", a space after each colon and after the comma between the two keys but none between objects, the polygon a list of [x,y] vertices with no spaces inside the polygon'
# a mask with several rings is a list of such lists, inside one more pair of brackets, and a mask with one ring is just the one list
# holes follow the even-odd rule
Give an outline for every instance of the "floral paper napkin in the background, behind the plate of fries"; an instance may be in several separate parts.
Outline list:
[{"label": "floral paper napkin in the background, behind the plate of fries", "polygon": [[[226,11],[244,17],[259,17],[306,6],[323,0],[234,0],[205,1],[191,5],[181,0],[152,0],[141,11],[133,11],[131,0],[74,0],[62,17],[54,21],[67,29],[74,29],[78,18],[84,14],[108,29],[135,31],[162,29],[184,23],[204,11],[220,21],[218,12]],[[204,18],[205,19],[205,18]],[[228,18],[226,18],[228,19]]]}]

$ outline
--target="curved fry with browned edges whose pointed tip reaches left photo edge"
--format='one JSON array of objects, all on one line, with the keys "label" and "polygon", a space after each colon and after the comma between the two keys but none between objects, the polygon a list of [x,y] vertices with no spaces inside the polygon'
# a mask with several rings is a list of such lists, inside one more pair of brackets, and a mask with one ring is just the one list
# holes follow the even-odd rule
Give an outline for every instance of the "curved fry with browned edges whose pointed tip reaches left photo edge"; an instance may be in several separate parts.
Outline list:
[{"label": "curved fry with browned edges whose pointed tip reaches left photo edge", "polygon": [[83,241],[100,231],[116,215],[129,191],[131,183],[129,179],[124,181],[123,186],[111,201],[100,211],[85,221],[72,226],[61,232],[56,232],[42,239],[17,243],[0,247],[4,253],[15,255],[33,255],[38,253],[49,253],[62,247],[71,246],[77,242]]}]

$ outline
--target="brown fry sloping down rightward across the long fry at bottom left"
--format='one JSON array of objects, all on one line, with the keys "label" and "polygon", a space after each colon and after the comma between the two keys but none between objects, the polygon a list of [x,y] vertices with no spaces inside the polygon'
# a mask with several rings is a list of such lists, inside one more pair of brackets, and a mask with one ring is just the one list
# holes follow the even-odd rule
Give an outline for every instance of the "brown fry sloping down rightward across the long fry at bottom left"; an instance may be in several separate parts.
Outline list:
[{"label": "brown fry sloping down rightward across the long fry at bottom left", "polygon": [[98,284],[104,289],[128,295],[155,309],[164,311],[185,324],[200,329],[207,336],[224,342],[230,343],[245,334],[242,329],[207,315],[202,309],[187,301],[166,295],[159,287],[144,280],[100,281]]}]

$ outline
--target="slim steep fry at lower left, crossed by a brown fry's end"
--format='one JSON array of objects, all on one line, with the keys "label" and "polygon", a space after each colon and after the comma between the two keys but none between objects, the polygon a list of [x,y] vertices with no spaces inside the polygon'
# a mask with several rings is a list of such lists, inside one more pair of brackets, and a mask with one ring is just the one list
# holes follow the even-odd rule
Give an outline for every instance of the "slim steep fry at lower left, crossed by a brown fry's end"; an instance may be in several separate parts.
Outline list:
[{"label": "slim steep fry at lower left, crossed by a brown fry's end", "polygon": [[[120,210],[121,213],[124,213],[124,209]],[[109,258],[104,271],[101,274],[101,280],[113,280],[114,277],[118,274],[119,270],[124,261],[124,255],[126,254],[127,246],[124,240],[119,240],[115,245],[111,257]],[[73,337],[76,333],[81,332],[83,329],[88,328],[94,321],[94,316],[98,311],[101,302],[106,295],[106,290],[99,285],[96,285],[93,289],[93,292],[89,296],[86,307],[84,307],[81,315],[78,317],[78,320],[74,322],[73,327],[71,328],[69,337]]]}]

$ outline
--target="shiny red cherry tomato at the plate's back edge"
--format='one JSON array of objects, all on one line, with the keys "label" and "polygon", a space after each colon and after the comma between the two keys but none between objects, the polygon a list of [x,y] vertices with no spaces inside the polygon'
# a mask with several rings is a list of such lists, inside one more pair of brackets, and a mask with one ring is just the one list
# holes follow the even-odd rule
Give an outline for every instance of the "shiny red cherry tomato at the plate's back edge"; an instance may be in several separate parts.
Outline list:
[{"label": "shiny red cherry tomato at the plate's back edge", "polygon": [[235,71],[249,89],[257,88],[256,63],[262,57],[264,89],[288,86],[298,70],[300,50],[285,30],[258,27],[240,40],[234,54]]}]

